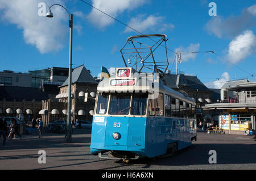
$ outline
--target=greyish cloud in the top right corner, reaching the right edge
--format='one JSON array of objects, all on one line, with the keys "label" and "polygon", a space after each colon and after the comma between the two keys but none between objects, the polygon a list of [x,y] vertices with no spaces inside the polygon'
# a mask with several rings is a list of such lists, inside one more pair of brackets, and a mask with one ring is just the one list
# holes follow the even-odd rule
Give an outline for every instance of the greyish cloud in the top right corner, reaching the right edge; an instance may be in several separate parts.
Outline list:
[{"label": "greyish cloud in the top right corner, reaching the right edge", "polygon": [[254,16],[256,15],[256,5],[243,9],[241,15],[229,16],[213,16],[205,28],[210,35],[215,35],[218,38],[233,38],[241,32],[256,25]]}]

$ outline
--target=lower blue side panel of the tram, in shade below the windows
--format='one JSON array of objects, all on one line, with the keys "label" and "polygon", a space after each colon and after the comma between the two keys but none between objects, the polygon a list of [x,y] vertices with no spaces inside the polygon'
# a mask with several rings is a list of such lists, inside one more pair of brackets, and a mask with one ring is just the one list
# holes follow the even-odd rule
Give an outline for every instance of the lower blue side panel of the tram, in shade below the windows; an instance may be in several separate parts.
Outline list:
[{"label": "lower blue side panel of the tram, in shade below the windows", "polygon": [[177,142],[177,149],[191,145],[196,136],[192,120],[171,117],[148,117],[146,124],[146,156],[155,157],[165,154],[167,145]]}]

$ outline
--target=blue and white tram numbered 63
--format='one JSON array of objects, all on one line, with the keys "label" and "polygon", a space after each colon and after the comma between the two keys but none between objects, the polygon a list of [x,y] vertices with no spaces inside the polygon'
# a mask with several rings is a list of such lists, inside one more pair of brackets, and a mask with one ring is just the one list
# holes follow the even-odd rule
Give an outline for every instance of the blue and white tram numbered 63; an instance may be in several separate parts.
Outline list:
[{"label": "blue and white tram numbered 63", "polygon": [[136,87],[130,83],[133,79],[115,76],[108,86],[97,89],[92,154],[103,157],[102,153],[110,151],[108,158],[152,158],[184,149],[196,140],[196,104],[192,98],[160,83],[156,99],[150,99],[148,91],[117,92],[117,87],[124,85],[120,82],[129,82],[125,85],[134,90]]}]

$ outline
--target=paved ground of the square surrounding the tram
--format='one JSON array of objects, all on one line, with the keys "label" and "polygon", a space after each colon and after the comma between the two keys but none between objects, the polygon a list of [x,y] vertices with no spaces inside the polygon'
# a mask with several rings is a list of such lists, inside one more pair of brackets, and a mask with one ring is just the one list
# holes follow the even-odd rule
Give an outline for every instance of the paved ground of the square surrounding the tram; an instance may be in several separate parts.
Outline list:
[{"label": "paved ground of the square surrounding the tram", "polygon": [[[125,164],[91,155],[89,129],[75,129],[71,144],[65,142],[63,134],[46,133],[43,139],[27,135],[0,146],[0,169],[256,169],[253,136],[201,132],[197,136],[191,147],[171,157],[138,159]],[[46,151],[46,163],[38,163],[39,150]],[[209,164],[209,150],[216,150],[216,164]]]}]

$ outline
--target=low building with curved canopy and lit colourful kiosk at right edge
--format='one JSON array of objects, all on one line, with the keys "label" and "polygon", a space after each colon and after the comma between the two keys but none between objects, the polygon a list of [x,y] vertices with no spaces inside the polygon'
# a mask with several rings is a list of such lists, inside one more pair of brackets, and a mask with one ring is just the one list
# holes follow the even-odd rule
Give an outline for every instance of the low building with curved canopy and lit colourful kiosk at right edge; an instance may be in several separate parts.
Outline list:
[{"label": "low building with curved canopy and lit colourful kiosk at right edge", "polygon": [[248,134],[251,129],[255,131],[256,82],[240,82],[225,89],[234,92],[228,102],[207,104],[203,109],[220,112],[218,127],[226,133]]}]

